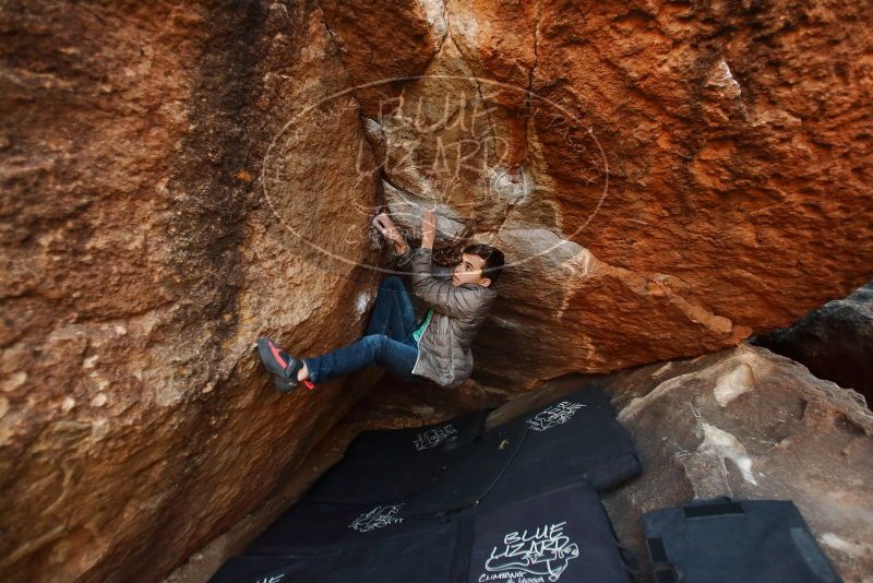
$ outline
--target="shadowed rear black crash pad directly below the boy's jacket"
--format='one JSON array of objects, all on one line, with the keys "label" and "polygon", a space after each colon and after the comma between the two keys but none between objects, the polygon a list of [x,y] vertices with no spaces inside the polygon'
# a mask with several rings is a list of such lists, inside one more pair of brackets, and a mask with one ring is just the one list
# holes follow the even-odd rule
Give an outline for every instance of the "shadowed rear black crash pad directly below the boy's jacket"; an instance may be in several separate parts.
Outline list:
[{"label": "shadowed rear black crash pad directly below the boy's jacket", "polygon": [[446,453],[476,441],[487,416],[488,411],[476,411],[424,427],[363,431],[349,445],[345,460],[398,463]]}]

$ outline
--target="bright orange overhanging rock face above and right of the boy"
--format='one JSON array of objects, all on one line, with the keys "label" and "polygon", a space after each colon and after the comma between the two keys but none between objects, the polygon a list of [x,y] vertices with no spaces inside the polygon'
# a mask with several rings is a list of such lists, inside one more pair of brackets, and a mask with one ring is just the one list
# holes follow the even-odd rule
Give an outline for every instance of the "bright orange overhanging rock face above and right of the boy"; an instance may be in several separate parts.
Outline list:
[{"label": "bright orange overhanging rock face above and right of the boy", "polygon": [[513,263],[479,380],[718,349],[871,275],[869,3],[408,4],[324,7],[388,207]]}]

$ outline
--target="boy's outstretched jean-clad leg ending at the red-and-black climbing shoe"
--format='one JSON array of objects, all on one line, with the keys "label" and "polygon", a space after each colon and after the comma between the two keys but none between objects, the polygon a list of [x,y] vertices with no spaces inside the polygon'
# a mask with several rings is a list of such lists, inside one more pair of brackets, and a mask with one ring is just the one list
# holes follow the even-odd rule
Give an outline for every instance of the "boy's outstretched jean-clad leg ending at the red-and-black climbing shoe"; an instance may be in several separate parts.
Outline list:
[{"label": "boy's outstretched jean-clad leg ending at the red-and-black climbing shoe", "polygon": [[321,356],[303,358],[309,379],[319,384],[369,365],[382,366],[399,377],[411,378],[418,358],[415,341],[398,342],[384,334],[368,334],[348,346]]}]

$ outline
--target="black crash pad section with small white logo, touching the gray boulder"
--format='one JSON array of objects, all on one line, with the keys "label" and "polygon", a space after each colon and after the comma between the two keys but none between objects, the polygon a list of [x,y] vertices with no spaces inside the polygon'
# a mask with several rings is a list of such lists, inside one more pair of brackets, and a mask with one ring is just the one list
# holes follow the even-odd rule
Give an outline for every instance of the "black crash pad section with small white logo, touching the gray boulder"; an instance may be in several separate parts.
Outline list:
[{"label": "black crash pad section with small white logo, touching the gray boulder", "polygon": [[577,481],[596,489],[642,472],[609,397],[588,385],[485,432],[409,499],[409,515],[435,515],[478,503],[499,507]]}]

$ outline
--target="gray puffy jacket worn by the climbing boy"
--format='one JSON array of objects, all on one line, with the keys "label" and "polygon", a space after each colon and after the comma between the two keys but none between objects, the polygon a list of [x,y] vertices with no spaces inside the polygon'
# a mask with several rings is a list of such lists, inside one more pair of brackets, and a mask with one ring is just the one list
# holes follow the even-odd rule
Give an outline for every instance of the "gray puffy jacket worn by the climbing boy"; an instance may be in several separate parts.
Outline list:
[{"label": "gray puffy jacket worn by the climbing boy", "polygon": [[396,255],[398,269],[411,262],[412,293],[433,308],[428,328],[418,343],[412,374],[454,388],[473,373],[470,344],[498,297],[495,289],[477,284],[452,284],[452,271],[434,267],[431,249],[407,246]]}]

